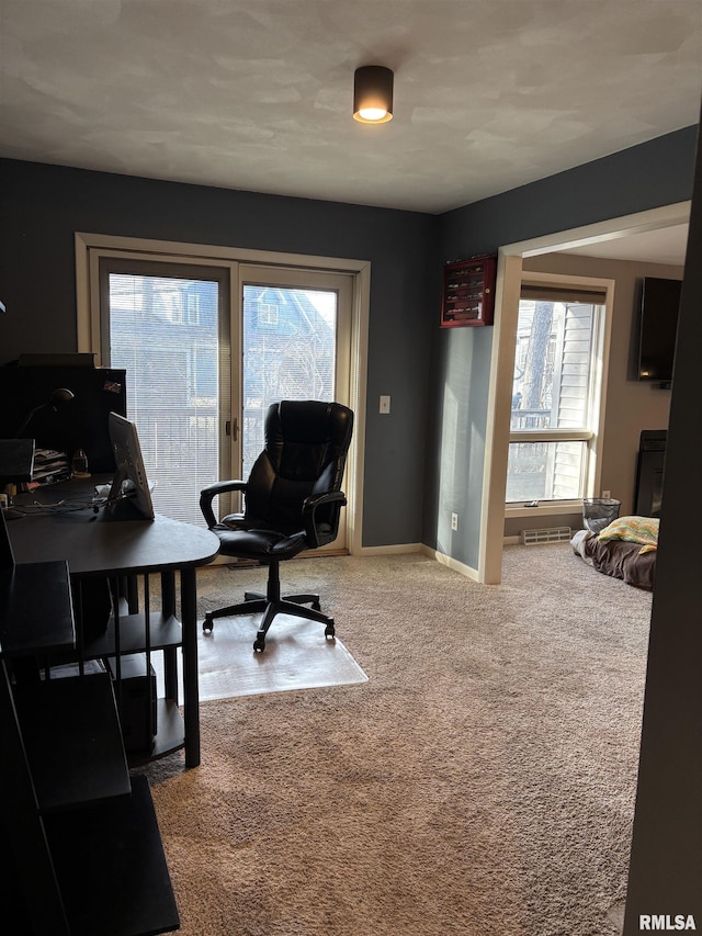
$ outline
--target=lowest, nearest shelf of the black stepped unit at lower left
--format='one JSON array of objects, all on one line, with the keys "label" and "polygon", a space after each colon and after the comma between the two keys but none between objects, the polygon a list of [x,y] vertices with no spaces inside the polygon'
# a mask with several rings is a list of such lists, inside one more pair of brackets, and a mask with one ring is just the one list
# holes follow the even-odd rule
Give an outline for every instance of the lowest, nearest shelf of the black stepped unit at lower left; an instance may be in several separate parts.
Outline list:
[{"label": "lowest, nearest shelf of the black stepped unit at lower left", "polygon": [[155,936],[180,920],[145,777],[132,796],[45,819],[71,936]]}]

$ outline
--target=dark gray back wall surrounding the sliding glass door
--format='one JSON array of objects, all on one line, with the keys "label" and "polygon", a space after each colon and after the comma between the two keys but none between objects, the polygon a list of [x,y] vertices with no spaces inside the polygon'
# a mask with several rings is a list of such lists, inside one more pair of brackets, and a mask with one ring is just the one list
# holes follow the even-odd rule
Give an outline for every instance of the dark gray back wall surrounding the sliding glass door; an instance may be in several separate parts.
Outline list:
[{"label": "dark gray back wall surrounding the sliding glass door", "polygon": [[435,217],[7,159],[0,190],[0,363],[76,350],[77,230],[370,260],[363,544],[419,542]]}]

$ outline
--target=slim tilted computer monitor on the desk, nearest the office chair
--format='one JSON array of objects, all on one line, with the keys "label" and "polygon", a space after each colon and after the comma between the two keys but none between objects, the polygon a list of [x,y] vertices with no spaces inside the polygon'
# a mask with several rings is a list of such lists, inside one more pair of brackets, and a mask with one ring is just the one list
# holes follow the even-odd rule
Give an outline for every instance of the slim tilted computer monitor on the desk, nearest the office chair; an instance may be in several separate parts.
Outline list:
[{"label": "slim tilted computer monitor on the desk, nearest the office chair", "polygon": [[118,413],[110,414],[107,426],[116,465],[107,510],[114,519],[152,520],[151,489],[136,426]]}]

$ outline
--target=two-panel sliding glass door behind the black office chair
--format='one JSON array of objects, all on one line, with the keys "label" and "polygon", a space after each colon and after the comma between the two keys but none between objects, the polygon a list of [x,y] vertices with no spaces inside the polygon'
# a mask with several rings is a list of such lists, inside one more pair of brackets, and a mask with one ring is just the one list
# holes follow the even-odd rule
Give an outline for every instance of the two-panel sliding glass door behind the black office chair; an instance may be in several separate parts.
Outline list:
[{"label": "two-panel sliding glass door behind the black office chair", "polygon": [[[158,512],[203,523],[200,490],[248,475],[272,402],[349,402],[352,282],[315,270],[101,258],[102,362],[126,369],[127,416]],[[220,499],[223,512],[238,507]]]}]

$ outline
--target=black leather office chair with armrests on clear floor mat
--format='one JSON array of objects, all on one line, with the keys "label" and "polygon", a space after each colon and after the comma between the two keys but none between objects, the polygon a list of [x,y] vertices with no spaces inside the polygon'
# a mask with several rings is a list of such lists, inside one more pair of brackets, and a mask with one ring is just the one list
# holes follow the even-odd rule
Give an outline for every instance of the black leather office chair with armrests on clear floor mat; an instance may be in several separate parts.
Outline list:
[{"label": "black leather office chair with armrests on clear floor mat", "polygon": [[[265,596],[246,593],[238,605],[208,611],[203,630],[214,618],[263,617],[253,650],[265,646],[265,634],[276,614],[294,614],[325,624],[335,635],[333,618],[324,614],[318,595],[281,597],[280,563],[303,550],[318,549],[336,539],[347,499],[341,478],[353,430],[353,413],[339,403],[290,401],[274,403],[265,417],[265,448],[247,482],[223,481],[205,487],[200,507],[210,529],[219,537],[219,552],[268,565]],[[212,501],[219,494],[244,492],[244,514],[217,522]],[[309,605],[310,607],[304,607]]]}]

